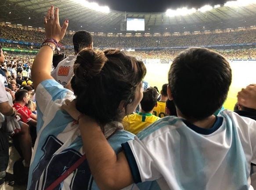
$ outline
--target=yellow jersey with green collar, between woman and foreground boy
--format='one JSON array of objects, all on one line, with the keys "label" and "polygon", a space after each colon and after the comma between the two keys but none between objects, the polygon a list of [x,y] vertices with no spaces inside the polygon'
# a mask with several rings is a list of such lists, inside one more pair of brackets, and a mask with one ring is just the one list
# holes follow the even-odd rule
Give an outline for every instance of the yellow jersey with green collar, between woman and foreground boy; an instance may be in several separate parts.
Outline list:
[{"label": "yellow jersey with green collar, between woman and foreground boy", "polygon": [[125,130],[137,134],[157,120],[160,120],[160,118],[151,113],[133,113],[123,118],[123,126]]}]

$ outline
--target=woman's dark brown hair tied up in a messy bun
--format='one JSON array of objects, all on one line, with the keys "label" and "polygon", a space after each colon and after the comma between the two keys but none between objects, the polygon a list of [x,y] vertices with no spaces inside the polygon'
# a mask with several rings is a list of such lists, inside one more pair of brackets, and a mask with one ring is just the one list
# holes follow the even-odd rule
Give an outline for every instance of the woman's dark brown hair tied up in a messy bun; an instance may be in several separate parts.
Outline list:
[{"label": "woman's dark brown hair tied up in a messy bun", "polygon": [[146,74],[142,61],[117,49],[83,49],[74,64],[71,86],[79,112],[93,117],[101,126],[119,121],[124,106],[133,101],[137,85]]}]

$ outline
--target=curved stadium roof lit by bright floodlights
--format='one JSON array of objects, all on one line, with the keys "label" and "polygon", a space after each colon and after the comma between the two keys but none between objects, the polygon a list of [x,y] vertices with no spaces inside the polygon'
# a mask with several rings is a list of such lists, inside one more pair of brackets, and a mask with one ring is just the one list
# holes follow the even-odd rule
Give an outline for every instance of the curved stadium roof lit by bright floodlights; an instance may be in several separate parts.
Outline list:
[{"label": "curved stadium roof lit by bright floodlights", "polygon": [[[69,19],[69,30],[120,32],[125,18],[144,18],[145,32],[184,32],[249,27],[256,25],[256,3],[244,7],[220,6],[210,11],[168,16],[166,13],[108,13],[83,6],[81,0],[0,0],[0,21],[43,28],[50,5],[59,7],[60,19]],[[97,7],[100,10],[102,7]]]}]

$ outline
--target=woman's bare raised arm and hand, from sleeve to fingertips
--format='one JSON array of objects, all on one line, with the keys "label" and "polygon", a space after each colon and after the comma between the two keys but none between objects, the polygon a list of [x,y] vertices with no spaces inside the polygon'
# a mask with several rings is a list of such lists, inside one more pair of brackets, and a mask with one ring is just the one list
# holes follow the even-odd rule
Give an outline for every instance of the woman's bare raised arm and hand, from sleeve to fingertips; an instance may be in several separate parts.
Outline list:
[{"label": "woman's bare raised arm and hand, from sleeve to fingertips", "polygon": [[[47,16],[44,18],[46,39],[55,39],[57,42],[59,42],[61,39],[63,39],[68,28],[68,24],[69,21],[65,20],[63,26],[60,26],[59,10],[56,8],[54,11],[54,6],[51,6],[47,12]],[[55,48],[54,43],[48,43]],[[42,81],[52,79],[50,76],[50,70],[53,54],[54,52],[50,46],[42,46],[39,53],[37,53],[31,70],[31,76],[35,89]]]}]

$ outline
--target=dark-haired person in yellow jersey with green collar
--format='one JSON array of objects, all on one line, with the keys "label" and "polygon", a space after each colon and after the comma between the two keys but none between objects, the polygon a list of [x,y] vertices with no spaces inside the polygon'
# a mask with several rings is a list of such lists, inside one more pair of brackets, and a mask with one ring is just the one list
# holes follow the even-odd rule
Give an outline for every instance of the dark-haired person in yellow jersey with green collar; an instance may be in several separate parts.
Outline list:
[{"label": "dark-haired person in yellow jersey with green collar", "polygon": [[133,134],[137,134],[151,123],[160,120],[158,116],[152,114],[153,108],[157,105],[157,91],[155,88],[148,88],[143,91],[141,100],[141,112],[133,113],[123,118],[123,126]]}]

